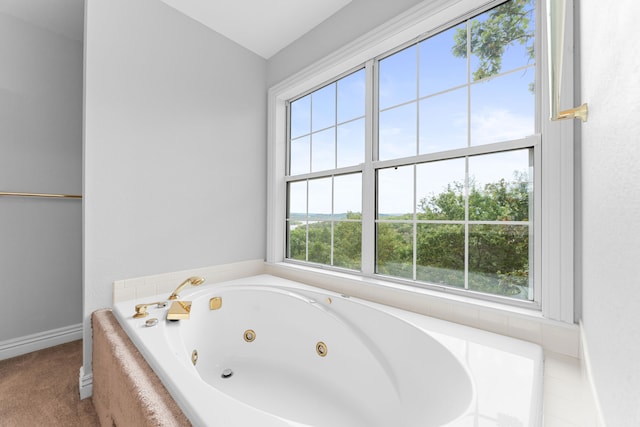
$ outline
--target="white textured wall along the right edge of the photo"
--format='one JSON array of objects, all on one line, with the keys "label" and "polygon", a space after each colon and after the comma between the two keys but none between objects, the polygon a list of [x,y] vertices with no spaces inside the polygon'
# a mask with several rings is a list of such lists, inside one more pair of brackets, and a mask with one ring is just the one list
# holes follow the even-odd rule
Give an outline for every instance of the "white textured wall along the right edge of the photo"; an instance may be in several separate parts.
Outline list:
[{"label": "white textured wall along the right edge of the photo", "polygon": [[636,0],[580,2],[583,327],[609,426],[640,422],[640,56]]}]

